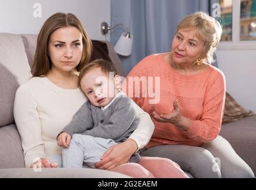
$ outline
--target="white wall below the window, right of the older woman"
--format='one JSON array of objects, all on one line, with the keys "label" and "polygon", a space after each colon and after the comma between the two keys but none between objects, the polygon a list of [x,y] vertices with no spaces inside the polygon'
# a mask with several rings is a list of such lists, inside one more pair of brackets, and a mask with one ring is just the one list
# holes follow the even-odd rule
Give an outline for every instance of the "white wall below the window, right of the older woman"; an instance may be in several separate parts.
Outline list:
[{"label": "white wall below the window, right of the older woman", "polygon": [[227,92],[256,113],[256,50],[218,50],[218,66],[226,76]]}]

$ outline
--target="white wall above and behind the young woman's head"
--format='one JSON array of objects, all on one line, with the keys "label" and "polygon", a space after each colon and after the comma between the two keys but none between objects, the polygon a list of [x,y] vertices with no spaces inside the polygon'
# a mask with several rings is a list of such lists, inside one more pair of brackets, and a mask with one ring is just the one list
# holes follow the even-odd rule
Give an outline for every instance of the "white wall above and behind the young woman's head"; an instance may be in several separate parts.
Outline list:
[{"label": "white wall above and behind the young woman's head", "polygon": [[[35,3],[42,5],[41,18],[33,16]],[[72,12],[92,39],[105,39],[100,23],[110,24],[110,0],[0,0],[0,32],[38,34],[44,21],[55,12]]]}]

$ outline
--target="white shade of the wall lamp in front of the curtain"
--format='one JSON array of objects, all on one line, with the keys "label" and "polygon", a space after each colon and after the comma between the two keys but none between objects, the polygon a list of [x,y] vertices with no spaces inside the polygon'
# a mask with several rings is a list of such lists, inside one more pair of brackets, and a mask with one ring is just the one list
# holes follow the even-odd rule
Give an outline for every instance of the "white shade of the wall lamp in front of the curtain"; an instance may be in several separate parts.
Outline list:
[{"label": "white shade of the wall lamp in front of the curtain", "polygon": [[116,53],[124,56],[131,55],[132,41],[133,41],[132,35],[125,35],[125,33],[122,33],[122,35],[119,37],[119,40],[114,47]]}]

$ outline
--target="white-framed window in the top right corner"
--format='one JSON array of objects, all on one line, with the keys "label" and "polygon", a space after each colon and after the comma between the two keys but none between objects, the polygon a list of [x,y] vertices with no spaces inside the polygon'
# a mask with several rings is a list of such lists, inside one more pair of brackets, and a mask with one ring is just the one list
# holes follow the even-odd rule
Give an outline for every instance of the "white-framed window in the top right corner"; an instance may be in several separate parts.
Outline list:
[{"label": "white-framed window in the top right corner", "polygon": [[220,49],[256,49],[256,0],[219,0]]}]

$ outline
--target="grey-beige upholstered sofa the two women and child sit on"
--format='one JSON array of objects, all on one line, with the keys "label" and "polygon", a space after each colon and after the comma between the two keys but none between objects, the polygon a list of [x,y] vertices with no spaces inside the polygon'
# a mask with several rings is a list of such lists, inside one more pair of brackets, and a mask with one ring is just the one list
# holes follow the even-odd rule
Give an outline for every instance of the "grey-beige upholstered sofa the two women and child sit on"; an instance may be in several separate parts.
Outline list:
[{"label": "grey-beige upholstered sofa the two women and child sit on", "polygon": [[[125,76],[115,50],[106,42],[108,55],[118,73]],[[18,86],[30,77],[36,35],[0,33],[0,178],[123,178],[115,172],[95,169],[24,169],[20,136],[13,118],[14,96]],[[220,134],[256,173],[256,116],[222,126]]]}]

